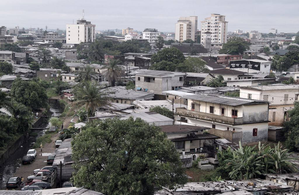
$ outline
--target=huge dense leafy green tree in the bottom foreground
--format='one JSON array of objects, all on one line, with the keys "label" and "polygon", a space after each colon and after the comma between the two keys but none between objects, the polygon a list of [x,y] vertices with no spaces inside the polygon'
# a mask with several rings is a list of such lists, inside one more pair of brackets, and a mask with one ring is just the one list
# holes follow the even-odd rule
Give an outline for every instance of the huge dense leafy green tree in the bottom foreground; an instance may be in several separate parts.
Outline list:
[{"label": "huge dense leafy green tree in the bottom foreground", "polygon": [[140,118],[94,120],[71,146],[76,186],[110,195],[152,195],[187,182],[173,143],[160,127]]}]

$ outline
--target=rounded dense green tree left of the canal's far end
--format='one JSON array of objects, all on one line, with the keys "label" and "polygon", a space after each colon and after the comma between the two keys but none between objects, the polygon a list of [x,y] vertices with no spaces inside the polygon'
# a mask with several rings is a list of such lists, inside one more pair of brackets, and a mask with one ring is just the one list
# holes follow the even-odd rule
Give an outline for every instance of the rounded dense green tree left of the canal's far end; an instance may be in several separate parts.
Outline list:
[{"label": "rounded dense green tree left of the canal's far end", "polygon": [[33,110],[48,106],[45,88],[35,80],[25,81],[16,78],[11,86],[10,96],[16,102],[22,103]]}]

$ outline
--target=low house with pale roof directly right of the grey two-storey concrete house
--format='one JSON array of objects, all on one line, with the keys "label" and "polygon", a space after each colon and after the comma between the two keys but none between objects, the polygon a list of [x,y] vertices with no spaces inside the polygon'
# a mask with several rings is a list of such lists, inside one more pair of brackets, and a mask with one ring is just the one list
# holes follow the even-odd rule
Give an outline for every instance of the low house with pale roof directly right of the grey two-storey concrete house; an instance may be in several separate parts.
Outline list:
[{"label": "low house with pale roof directly right of the grey two-storey concrete house", "polygon": [[196,73],[196,72],[187,72],[186,78],[184,80],[184,86],[197,86],[205,85],[215,78],[210,73]]}]

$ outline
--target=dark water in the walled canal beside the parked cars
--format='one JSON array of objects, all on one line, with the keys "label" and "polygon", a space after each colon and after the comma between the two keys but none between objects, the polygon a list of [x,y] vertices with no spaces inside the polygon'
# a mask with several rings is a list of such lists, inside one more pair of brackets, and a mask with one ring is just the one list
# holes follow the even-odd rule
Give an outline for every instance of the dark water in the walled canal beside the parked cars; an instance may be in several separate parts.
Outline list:
[{"label": "dark water in the walled canal beside the parked cars", "polygon": [[[55,105],[50,105],[50,112],[52,116],[59,116],[63,111],[60,107]],[[45,122],[41,124],[38,128],[49,127],[50,124]],[[41,130],[38,132],[38,136],[41,136],[47,130]],[[16,172],[17,168],[22,166],[22,157],[27,154],[28,150],[31,149],[31,146],[35,142],[36,137],[29,137],[28,141],[23,143],[22,147],[20,147],[10,158],[0,167],[0,189],[6,189],[7,180],[13,176]]]}]

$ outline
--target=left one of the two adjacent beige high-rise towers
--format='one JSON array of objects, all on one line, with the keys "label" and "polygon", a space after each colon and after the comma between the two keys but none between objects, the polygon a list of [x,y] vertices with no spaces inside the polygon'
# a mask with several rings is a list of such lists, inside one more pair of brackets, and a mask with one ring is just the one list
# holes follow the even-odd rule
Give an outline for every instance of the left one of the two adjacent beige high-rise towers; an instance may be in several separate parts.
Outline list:
[{"label": "left one of the two adjacent beige high-rise towers", "polygon": [[197,41],[197,16],[180,17],[176,23],[175,39],[183,42],[186,39]]}]

